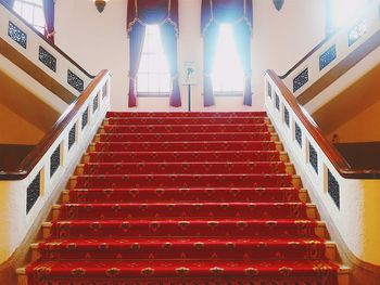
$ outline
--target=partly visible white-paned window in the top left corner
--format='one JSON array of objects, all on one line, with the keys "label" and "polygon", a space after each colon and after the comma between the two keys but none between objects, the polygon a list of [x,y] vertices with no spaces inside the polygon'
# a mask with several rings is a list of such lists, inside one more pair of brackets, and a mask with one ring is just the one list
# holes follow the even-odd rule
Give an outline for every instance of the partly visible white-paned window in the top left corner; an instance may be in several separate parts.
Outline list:
[{"label": "partly visible white-paned window in the top left corner", "polygon": [[42,0],[15,0],[13,10],[41,34],[45,33]]}]

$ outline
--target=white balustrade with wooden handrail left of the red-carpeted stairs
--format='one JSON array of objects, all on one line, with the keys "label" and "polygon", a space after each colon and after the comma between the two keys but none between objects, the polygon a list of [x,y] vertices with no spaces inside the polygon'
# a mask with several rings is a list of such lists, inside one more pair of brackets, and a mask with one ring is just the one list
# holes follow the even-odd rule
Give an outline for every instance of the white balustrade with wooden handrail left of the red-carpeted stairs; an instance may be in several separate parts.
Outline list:
[{"label": "white balustrade with wooden handrail left of the red-carpeted stairs", "polygon": [[[12,172],[0,172],[0,263],[21,246],[46,205],[65,187],[105,113],[110,73],[102,70]],[[39,221],[41,222],[41,221]]]}]

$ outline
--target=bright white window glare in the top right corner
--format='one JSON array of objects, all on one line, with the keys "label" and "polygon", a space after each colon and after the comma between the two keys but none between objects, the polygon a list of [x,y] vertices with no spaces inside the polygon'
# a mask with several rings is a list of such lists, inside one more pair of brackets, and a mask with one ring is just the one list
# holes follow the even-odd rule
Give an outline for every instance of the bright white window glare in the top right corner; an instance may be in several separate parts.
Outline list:
[{"label": "bright white window glare in the top right corner", "polygon": [[332,7],[334,27],[340,28],[355,20],[363,2],[364,0],[334,0]]}]

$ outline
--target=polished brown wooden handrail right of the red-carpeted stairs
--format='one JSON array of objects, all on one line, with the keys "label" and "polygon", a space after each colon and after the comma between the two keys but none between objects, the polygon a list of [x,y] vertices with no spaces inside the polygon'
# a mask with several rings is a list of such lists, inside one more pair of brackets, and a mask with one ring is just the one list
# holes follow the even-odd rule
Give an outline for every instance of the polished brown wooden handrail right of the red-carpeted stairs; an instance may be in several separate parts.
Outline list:
[{"label": "polished brown wooden handrail right of the red-carpeted stairs", "polygon": [[338,150],[326,139],[322,134],[321,129],[314,121],[312,116],[307,111],[302,107],[293,93],[283,83],[281,78],[274,72],[267,70],[267,75],[271,78],[275,85],[280,90],[282,96],[288,102],[289,106],[292,108],[295,116],[306,128],[308,133],[313,137],[315,142],[319,145],[321,151],[325,153],[330,163],[334,166],[337,171],[343,177],[349,179],[380,179],[380,171],[375,169],[355,169],[353,170],[349,163],[343,158],[343,156],[338,152]]}]

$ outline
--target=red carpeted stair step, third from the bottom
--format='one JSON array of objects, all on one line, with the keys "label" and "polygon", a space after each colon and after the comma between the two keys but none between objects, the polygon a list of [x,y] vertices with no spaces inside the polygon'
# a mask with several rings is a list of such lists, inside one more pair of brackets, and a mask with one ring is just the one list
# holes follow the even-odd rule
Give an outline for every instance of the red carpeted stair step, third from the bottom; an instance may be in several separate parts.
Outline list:
[{"label": "red carpeted stair step, third from the bottom", "polygon": [[[231,232],[233,231],[233,233]],[[106,234],[105,234],[106,233]],[[143,234],[142,234],[143,233]],[[45,222],[43,238],[130,238],[130,237],[327,237],[326,224],[315,220],[74,220]]]}]

